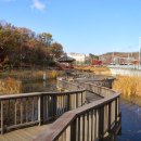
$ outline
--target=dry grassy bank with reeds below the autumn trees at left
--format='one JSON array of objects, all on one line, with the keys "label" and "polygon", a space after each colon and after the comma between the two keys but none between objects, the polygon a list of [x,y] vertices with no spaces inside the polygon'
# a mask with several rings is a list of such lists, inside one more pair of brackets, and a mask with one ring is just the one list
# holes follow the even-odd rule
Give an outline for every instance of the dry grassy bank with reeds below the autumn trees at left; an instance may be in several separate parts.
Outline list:
[{"label": "dry grassy bank with reeds below the autumn trees at left", "polygon": [[62,72],[57,70],[11,70],[0,73],[0,94],[20,93],[22,82],[30,80],[55,79]]}]

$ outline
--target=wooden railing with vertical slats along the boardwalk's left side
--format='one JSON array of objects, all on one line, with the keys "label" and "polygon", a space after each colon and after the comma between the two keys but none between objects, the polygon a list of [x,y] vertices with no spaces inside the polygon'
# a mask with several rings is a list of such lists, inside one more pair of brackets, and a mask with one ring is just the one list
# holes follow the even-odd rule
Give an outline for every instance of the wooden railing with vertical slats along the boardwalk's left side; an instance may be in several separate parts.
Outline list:
[{"label": "wooden railing with vertical slats along the boardwalk's left side", "polygon": [[[68,92],[33,92],[0,95],[0,131],[44,124],[84,105],[85,89],[64,81]],[[59,82],[61,86],[61,82]],[[70,87],[72,86],[72,87]],[[74,91],[73,91],[74,90]]]}]

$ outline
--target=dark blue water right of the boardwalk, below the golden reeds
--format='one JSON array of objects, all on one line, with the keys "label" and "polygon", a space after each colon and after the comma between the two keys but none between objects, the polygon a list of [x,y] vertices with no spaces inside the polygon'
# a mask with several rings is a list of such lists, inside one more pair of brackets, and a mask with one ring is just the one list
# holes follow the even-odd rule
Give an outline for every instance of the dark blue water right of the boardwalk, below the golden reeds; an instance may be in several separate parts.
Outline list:
[{"label": "dark blue water right of the boardwalk, below the golden reeds", "polygon": [[116,141],[141,141],[141,98],[120,99],[121,134]]}]

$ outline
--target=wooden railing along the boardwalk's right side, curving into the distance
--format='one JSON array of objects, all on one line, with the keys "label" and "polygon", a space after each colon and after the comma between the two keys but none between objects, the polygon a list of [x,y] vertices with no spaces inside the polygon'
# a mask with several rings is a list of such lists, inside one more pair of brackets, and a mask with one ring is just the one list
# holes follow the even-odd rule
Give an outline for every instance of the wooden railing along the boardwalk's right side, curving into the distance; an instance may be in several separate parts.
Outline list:
[{"label": "wooden railing along the boardwalk's right side, curving into the distance", "polygon": [[102,141],[119,126],[119,93],[93,84],[85,87],[104,99],[66,112],[34,141]]}]

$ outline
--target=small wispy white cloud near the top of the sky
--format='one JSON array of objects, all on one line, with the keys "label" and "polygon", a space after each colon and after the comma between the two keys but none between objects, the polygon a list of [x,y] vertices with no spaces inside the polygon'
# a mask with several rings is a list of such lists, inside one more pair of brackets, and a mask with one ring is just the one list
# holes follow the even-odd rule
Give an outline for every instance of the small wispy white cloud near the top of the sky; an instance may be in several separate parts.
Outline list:
[{"label": "small wispy white cloud near the top of the sky", "polygon": [[40,0],[33,0],[31,8],[42,11],[46,9],[46,4],[42,3]]}]

